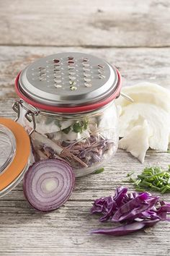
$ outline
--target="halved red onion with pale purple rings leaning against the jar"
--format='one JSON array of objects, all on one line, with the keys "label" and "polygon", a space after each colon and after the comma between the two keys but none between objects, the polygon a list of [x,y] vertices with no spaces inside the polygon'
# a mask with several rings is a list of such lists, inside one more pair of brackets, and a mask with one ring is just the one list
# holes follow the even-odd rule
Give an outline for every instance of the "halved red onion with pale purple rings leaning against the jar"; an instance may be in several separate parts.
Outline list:
[{"label": "halved red onion with pale purple rings leaning against the jar", "polygon": [[55,210],[68,200],[75,176],[71,166],[59,159],[34,163],[23,179],[24,196],[37,210]]}]

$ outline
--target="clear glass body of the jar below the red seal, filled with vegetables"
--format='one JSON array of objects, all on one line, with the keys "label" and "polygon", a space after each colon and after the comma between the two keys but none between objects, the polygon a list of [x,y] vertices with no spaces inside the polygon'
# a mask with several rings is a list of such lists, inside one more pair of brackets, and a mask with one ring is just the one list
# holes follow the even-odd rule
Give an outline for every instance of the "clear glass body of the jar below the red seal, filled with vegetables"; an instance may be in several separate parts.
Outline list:
[{"label": "clear glass body of the jar below the red seal, filled with vegetables", "polygon": [[[23,108],[24,106],[24,108]],[[25,117],[28,103],[20,106],[19,123],[27,132],[33,128]],[[32,152],[35,161],[62,158],[76,176],[84,176],[104,166],[118,146],[118,120],[115,102],[83,114],[54,114],[40,111],[35,116]]]}]

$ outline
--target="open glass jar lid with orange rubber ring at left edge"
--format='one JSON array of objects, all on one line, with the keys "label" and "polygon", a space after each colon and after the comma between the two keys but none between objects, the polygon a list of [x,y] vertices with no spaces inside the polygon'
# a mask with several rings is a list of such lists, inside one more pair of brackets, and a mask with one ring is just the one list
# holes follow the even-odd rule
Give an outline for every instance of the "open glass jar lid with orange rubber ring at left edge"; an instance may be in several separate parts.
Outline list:
[{"label": "open glass jar lid with orange rubber ring at left edge", "polygon": [[20,181],[30,158],[30,138],[11,119],[0,118],[0,197]]}]

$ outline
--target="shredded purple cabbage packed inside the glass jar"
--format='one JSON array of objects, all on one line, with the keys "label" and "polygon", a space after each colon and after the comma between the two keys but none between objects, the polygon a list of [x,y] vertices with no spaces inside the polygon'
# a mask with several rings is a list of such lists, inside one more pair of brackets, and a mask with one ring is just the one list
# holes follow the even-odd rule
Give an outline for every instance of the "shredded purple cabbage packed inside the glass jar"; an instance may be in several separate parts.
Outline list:
[{"label": "shredded purple cabbage packed inside the glass jar", "polygon": [[[69,150],[71,154],[75,155],[81,161],[86,163],[88,167],[92,166],[94,163],[102,162],[104,160],[104,154],[106,154],[111,148],[115,146],[115,143],[112,140],[105,139],[102,137],[102,135],[90,135],[90,137],[86,138],[86,140],[77,142],[62,142],[60,140],[55,141],[53,140],[53,135],[47,134],[47,136],[57,145],[61,145],[63,150]],[[35,142],[32,140],[32,151],[35,156],[35,161],[48,158],[58,158],[58,154],[53,150],[53,148],[45,145],[45,142]],[[67,161],[68,156],[64,159]],[[69,163],[71,163],[73,168],[82,167],[81,164],[75,161],[74,158],[69,159]]]}]

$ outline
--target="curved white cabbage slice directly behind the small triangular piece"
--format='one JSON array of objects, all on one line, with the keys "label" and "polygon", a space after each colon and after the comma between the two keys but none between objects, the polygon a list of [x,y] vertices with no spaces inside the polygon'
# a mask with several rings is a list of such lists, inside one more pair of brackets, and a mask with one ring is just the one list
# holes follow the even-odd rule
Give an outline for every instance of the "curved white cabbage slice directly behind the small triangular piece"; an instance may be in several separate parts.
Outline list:
[{"label": "curved white cabbage slice directly behind the small triangular piece", "polygon": [[136,125],[148,121],[153,130],[149,146],[155,150],[167,150],[170,133],[170,114],[150,103],[133,103],[123,108],[120,116],[120,137],[131,132]]}]

